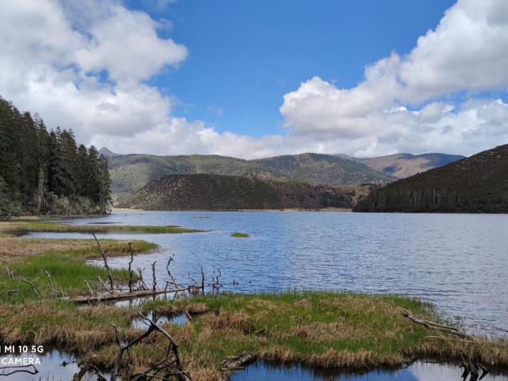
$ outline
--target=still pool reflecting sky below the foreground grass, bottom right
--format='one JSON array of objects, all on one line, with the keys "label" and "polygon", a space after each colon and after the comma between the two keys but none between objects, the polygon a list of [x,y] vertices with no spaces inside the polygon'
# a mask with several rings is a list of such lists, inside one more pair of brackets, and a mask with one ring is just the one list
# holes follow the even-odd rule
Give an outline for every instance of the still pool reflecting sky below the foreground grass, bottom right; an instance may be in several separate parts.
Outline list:
[{"label": "still pool reflecting sky below the foreground grass, bottom right", "polygon": [[[236,372],[231,381],[437,381],[462,380],[462,368],[453,364],[435,364],[418,362],[401,370],[372,370],[363,374],[344,372],[344,370],[319,370],[299,365],[271,365],[258,362]],[[486,375],[484,381],[505,381],[506,375]]]}]

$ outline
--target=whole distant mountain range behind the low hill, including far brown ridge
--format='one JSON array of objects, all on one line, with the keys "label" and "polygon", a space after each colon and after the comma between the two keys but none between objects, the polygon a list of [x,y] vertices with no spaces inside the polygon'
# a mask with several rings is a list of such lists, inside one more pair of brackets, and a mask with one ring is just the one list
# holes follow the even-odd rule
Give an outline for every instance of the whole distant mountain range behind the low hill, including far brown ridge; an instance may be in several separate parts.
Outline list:
[{"label": "whole distant mountain range behind the low hill, including far brown ridge", "polygon": [[215,174],[294,181],[317,185],[386,184],[405,176],[443,165],[462,156],[399,154],[372,159],[353,159],[345,155],[297,154],[266,159],[237,159],[218,155],[155,156],[115,154],[106,147],[114,200],[132,195],[164,175]]}]

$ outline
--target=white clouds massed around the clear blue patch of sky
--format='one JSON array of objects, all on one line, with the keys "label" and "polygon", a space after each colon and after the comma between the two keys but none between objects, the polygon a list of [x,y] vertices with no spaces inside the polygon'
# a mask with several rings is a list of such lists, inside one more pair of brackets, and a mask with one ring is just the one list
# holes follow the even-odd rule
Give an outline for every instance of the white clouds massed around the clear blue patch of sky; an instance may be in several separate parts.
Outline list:
[{"label": "white clouds massed around the clear blue patch of sky", "polygon": [[120,153],[472,154],[508,142],[507,1],[458,1],[407,55],[366,66],[356,87],[302,79],[280,106],[286,130],[261,138],[171,114],[148,82],[189,54],[160,36],[169,24],[120,1],[2,1],[0,95]]}]

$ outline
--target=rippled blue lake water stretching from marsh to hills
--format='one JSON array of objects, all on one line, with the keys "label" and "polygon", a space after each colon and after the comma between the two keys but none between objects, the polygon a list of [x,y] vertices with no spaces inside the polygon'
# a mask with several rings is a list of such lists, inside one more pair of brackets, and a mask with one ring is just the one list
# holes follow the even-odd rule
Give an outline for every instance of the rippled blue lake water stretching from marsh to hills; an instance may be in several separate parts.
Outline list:
[{"label": "rippled blue lake water stretching from marsh to hills", "polygon": [[[181,225],[211,232],[102,237],[156,242],[134,267],[157,261],[159,284],[171,271],[189,284],[203,267],[211,280],[243,292],[331,289],[408,294],[435,302],[470,331],[508,335],[508,215],[312,212],[116,212],[73,224]],[[231,237],[245,232],[249,238]],[[90,237],[34,233],[38,237]],[[128,258],[110,259],[127,267]]]}]

